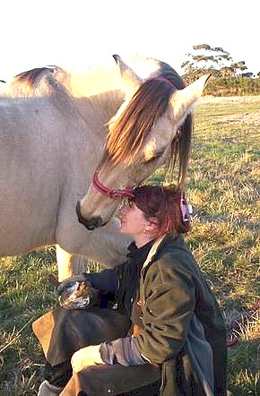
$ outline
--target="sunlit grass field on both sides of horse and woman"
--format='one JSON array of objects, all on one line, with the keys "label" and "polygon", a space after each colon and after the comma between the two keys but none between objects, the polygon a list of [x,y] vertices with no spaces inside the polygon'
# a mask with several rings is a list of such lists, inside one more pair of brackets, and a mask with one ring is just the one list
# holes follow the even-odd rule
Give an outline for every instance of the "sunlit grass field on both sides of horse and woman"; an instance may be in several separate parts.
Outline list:
[{"label": "sunlit grass field on both sides of horse and woman", "polygon": [[[221,303],[227,327],[260,300],[260,97],[204,98],[195,111],[187,196],[194,206],[186,242]],[[152,176],[160,180],[163,170]],[[26,230],[24,230],[26,232]],[[43,358],[31,323],[56,296],[53,248],[0,259],[0,395],[33,395]],[[229,389],[260,395],[260,314],[229,349]]]}]

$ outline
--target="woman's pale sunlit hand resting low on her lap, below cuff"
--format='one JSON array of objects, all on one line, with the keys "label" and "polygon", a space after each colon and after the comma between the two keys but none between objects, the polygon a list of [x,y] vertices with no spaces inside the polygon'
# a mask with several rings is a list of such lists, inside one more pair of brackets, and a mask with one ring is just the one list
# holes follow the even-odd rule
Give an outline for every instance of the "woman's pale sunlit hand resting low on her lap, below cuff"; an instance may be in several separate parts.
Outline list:
[{"label": "woman's pale sunlit hand resting low on her lap, below cuff", "polygon": [[74,373],[78,373],[84,367],[105,365],[100,356],[100,345],[91,345],[77,350],[72,359]]}]

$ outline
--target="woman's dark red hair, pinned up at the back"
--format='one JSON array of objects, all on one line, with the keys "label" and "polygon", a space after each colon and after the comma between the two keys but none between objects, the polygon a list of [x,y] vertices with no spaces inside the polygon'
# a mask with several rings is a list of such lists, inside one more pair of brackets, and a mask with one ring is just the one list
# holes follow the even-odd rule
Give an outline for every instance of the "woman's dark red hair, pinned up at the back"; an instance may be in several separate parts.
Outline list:
[{"label": "woman's dark red hair, pinned up at the back", "polygon": [[157,219],[157,237],[162,237],[164,234],[178,237],[179,234],[186,234],[190,229],[190,222],[183,221],[180,209],[182,194],[179,187],[141,185],[134,188],[134,197],[130,201],[143,211],[146,220]]}]

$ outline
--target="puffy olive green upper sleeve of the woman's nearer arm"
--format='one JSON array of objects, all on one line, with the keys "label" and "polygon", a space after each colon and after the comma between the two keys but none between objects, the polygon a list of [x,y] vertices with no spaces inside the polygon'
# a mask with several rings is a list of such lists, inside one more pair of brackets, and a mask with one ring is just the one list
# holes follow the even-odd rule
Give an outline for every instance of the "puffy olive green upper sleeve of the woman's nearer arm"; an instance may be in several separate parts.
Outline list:
[{"label": "puffy olive green upper sleeve of the woman's nearer arm", "polygon": [[178,354],[183,348],[195,308],[191,275],[172,260],[152,264],[144,280],[143,331],[136,346],[154,364]]}]

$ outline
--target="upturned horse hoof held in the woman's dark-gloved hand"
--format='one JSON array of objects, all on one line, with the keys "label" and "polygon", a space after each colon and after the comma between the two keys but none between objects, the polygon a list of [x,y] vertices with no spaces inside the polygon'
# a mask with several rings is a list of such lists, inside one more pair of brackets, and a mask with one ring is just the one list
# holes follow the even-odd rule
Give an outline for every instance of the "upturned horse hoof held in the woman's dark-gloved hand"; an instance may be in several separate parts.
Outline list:
[{"label": "upturned horse hoof held in the woman's dark-gloved hand", "polygon": [[65,309],[85,309],[95,306],[100,301],[100,290],[92,288],[87,273],[74,275],[60,282],[56,288],[60,306]]}]

